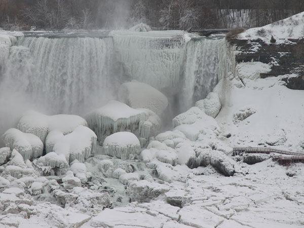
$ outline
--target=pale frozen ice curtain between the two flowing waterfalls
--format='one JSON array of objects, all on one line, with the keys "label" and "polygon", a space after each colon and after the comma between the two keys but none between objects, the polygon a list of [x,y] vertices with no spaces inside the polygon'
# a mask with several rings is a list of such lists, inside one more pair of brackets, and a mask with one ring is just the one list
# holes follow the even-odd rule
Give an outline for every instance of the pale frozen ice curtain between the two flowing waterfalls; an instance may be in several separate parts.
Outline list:
[{"label": "pale frozen ice curtain between the two flowing waterfalls", "polygon": [[111,35],[128,78],[158,90],[178,85],[186,43],[183,32],[112,31]]}]

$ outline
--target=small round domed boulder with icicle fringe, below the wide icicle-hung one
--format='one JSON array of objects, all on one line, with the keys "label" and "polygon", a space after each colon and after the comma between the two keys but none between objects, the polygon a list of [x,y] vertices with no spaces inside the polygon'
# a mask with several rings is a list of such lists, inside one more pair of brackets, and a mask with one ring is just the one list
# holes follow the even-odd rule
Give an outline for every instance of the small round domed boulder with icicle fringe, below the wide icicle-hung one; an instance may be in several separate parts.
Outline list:
[{"label": "small round domed boulder with icicle fringe, below the wide icicle-hung one", "polygon": [[103,142],[105,155],[120,159],[135,159],[141,150],[140,142],[131,132],[117,132],[105,138]]}]

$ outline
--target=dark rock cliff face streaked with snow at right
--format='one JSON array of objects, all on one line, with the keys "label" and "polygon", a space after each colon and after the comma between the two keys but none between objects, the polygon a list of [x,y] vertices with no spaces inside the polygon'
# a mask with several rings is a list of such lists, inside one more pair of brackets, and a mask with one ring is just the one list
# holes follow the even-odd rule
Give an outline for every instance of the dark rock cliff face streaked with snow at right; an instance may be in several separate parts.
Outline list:
[{"label": "dark rock cliff face streaked with snow at right", "polygon": [[269,73],[261,74],[261,78],[295,73],[298,77],[284,79],[289,89],[304,90],[304,39],[289,39],[284,44],[265,44],[262,40],[230,41],[240,51],[236,61],[260,61],[272,63]]}]

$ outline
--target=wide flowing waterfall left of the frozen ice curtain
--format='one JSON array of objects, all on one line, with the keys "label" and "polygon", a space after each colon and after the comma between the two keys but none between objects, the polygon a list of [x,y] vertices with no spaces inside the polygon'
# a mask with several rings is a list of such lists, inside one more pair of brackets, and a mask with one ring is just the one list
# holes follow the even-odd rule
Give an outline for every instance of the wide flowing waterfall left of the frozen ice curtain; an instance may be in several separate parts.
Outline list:
[{"label": "wide flowing waterfall left of the frozen ice curtain", "polygon": [[[79,113],[113,98],[112,39],[24,37],[10,49],[2,87],[53,113]],[[87,111],[87,110],[86,110]]]}]

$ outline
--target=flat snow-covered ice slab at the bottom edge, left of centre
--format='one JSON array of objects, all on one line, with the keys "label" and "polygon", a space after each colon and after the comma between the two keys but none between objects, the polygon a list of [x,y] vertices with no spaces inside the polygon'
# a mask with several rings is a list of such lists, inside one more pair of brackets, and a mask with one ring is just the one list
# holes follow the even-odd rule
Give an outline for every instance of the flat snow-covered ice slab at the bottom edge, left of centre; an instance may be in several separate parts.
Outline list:
[{"label": "flat snow-covered ice slab at the bottom edge, left of centre", "polygon": [[90,225],[93,227],[117,227],[118,225],[124,225],[132,227],[161,228],[165,221],[164,218],[154,217],[145,213],[126,213],[105,209],[90,220]]}]

